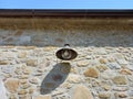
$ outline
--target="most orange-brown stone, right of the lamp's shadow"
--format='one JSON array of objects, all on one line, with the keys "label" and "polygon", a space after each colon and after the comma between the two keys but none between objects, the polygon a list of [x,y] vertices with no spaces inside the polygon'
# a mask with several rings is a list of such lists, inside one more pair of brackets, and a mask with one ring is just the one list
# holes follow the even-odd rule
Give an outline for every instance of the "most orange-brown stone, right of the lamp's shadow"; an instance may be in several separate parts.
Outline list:
[{"label": "most orange-brown stone, right of the lamp's shadow", "polygon": [[99,77],[99,70],[96,68],[90,67],[85,73],[84,73],[85,77]]}]

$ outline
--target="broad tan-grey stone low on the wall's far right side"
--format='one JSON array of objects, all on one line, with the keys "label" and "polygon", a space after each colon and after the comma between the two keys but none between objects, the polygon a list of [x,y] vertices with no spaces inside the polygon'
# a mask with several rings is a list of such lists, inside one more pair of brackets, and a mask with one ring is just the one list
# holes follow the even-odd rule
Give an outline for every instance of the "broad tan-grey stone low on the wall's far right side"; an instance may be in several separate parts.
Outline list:
[{"label": "broad tan-grey stone low on the wall's far right side", "polygon": [[112,80],[116,85],[126,85],[127,84],[125,76],[115,76]]}]

